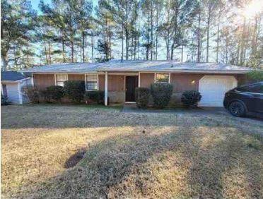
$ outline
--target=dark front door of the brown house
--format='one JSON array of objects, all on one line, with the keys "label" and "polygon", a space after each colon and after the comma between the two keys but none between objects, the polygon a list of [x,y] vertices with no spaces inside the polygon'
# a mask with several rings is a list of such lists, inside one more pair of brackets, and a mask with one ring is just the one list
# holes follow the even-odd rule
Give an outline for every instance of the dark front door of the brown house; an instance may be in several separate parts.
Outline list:
[{"label": "dark front door of the brown house", "polygon": [[135,88],[138,87],[137,76],[126,76],[126,102],[135,101]]}]

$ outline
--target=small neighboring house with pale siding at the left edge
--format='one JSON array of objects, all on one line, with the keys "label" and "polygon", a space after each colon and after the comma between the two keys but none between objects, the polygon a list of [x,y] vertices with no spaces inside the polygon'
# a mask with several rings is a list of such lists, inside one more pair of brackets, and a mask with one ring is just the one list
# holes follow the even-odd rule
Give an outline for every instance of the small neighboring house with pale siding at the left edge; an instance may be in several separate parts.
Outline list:
[{"label": "small neighboring house with pale siding at the left edge", "polygon": [[12,104],[28,102],[28,98],[22,92],[26,85],[33,85],[33,78],[16,71],[1,71],[1,95],[8,97],[8,102]]}]

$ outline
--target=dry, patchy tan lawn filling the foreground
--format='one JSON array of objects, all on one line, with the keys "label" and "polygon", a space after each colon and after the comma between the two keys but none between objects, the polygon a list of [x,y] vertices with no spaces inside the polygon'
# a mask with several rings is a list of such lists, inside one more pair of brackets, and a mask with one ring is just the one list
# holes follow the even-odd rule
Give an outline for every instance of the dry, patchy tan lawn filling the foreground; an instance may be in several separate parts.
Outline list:
[{"label": "dry, patchy tan lawn filling the foreground", "polygon": [[3,198],[263,197],[262,126],[231,116],[47,104],[1,121]]}]

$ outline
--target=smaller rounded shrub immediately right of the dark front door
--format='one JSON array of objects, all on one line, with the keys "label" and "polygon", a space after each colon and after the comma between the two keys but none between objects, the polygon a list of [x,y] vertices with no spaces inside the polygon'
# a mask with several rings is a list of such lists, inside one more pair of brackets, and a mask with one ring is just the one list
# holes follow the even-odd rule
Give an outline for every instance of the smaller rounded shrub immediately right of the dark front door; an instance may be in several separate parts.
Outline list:
[{"label": "smaller rounded shrub immediately right of the dark front door", "polygon": [[146,108],[150,100],[151,90],[148,88],[136,88],[135,100],[138,108]]}]

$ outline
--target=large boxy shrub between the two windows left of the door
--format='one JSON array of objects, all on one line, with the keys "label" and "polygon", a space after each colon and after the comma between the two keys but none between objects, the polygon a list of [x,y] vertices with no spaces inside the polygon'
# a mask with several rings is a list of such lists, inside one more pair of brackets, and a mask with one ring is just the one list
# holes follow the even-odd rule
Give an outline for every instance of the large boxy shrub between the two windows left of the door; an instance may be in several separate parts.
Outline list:
[{"label": "large boxy shrub between the two windows left of the door", "polygon": [[80,103],[85,93],[85,82],[67,80],[64,82],[64,92],[69,100]]}]

